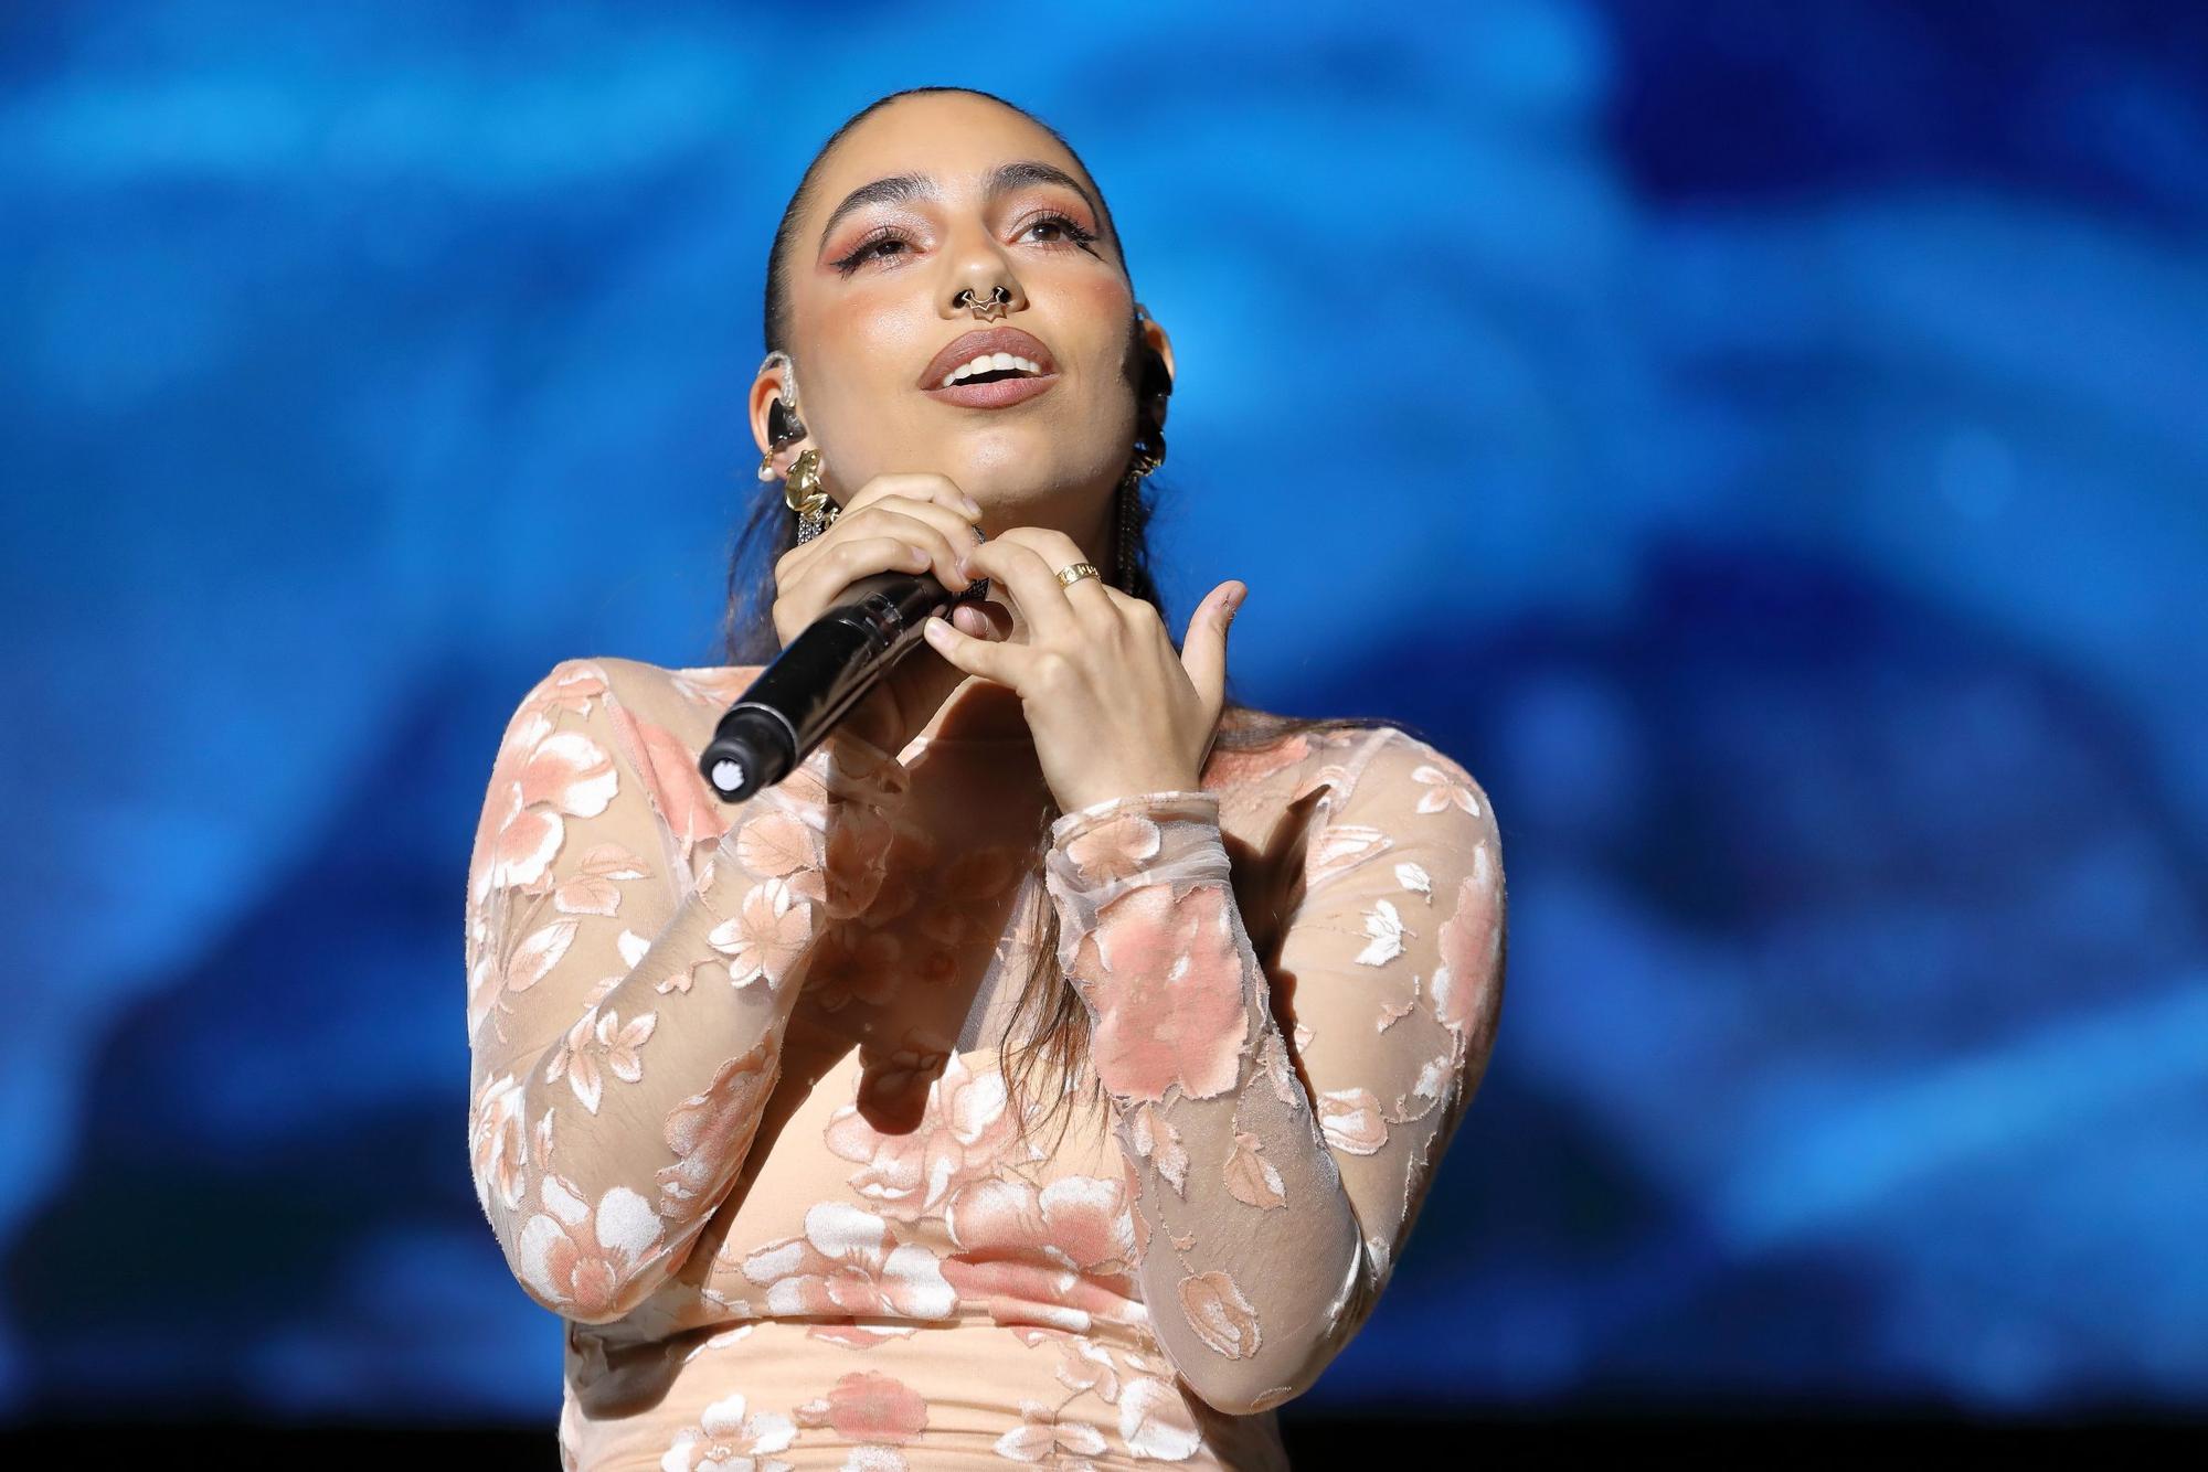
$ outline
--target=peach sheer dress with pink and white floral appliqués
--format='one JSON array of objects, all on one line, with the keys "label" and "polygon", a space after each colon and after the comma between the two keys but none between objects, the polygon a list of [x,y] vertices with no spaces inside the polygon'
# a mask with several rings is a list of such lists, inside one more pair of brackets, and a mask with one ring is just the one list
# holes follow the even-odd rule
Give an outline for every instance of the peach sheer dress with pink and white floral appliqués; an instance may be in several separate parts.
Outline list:
[{"label": "peach sheer dress with pink and white floral appliqu\u00e9s", "polygon": [[[1025,737],[839,733],[720,803],[755,675],[565,660],[484,799],[470,1170],[565,1320],[563,1465],[1285,1465],[1486,1070],[1486,792],[1301,733],[1038,863]],[[998,1068],[1044,907],[1106,1090],[1062,1134]]]}]

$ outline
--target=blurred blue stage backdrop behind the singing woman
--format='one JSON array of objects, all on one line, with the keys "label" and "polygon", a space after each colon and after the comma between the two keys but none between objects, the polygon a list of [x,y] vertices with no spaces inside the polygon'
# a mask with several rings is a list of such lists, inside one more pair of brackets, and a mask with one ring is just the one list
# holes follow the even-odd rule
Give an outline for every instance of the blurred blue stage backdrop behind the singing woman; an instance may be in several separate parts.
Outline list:
[{"label": "blurred blue stage backdrop behind the singing woman", "polygon": [[[0,15],[0,1408],[550,1428],[461,900],[556,660],[711,664],[813,148],[1104,185],[1170,620],[1420,724],[1493,1070],[1289,1419],[2199,1410],[2208,9]],[[987,22],[987,24],[978,24]]]}]

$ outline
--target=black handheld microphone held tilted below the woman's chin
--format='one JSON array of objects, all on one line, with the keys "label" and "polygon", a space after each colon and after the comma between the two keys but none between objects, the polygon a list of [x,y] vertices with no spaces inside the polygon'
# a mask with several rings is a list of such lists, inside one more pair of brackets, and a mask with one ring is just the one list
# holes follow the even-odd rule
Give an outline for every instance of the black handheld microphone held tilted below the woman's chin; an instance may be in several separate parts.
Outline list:
[{"label": "black handheld microphone held tilted below the woman's chin", "polygon": [[930,574],[877,572],[852,583],[729,706],[698,757],[724,803],[788,777],[835,724],[921,642],[930,614],[989,591],[987,578],[954,596]]}]

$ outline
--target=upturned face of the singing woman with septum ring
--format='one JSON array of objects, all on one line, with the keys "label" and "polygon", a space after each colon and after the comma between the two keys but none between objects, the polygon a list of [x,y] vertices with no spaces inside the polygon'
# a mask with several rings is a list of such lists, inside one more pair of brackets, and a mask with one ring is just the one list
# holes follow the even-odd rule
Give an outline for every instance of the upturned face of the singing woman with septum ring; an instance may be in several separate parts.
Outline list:
[{"label": "upturned face of the singing woman with septum ring", "polygon": [[[1049,168],[994,179],[1013,163]],[[899,177],[919,188],[890,196],[881,181]],[[1049,132],[985,97],[905,97],[837,143],[788,245],[799,408],[830,494],[936,472],[983,503],[985,525],[1095,532],[1126,468],[1139,380],[1135,298],[1093,201]],[[956,302],[996,287],[1009,294],[996,318]],[[998,327],[1040,340],[1047,391],[994,408],[930,393],[943,349]]]}]

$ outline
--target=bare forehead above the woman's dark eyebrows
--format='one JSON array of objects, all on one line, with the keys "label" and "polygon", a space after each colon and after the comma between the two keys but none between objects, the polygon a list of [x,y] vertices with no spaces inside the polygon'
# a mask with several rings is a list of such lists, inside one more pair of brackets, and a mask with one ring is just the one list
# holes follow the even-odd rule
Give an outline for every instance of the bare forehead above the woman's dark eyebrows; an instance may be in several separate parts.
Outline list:
[{"label": "bare forehead above the woman's dark eyebrows", "polygon": [[1095,188],[1033,119],[987,97],[934,93],[901,97],[837,141],[821,161],[813,216],[821,218],[843,194],[888,174],[932,174],[956,196],[1009,159],[1047,159]]}]

